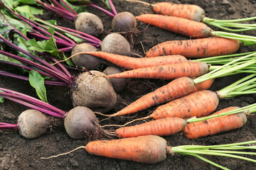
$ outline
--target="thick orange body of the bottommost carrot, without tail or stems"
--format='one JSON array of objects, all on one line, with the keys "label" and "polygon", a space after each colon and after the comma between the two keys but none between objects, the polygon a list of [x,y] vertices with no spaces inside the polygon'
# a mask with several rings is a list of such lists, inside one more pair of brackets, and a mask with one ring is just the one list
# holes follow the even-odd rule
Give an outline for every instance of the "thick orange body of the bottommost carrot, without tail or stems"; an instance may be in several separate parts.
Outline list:
[{"label": "thick orange body of the bottommost carrot, without tail or stems", "polygon": [[85,149],[88,153],[98,156],[147,164],[155,164],[166,159],[166,140],[154,135],[92,141]]}]

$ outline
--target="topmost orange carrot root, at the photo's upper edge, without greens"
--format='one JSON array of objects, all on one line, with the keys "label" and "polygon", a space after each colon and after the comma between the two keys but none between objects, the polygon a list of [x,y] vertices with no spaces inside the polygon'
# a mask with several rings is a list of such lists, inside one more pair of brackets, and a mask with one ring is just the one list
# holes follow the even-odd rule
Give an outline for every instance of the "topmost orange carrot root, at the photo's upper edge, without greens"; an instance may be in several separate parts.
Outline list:
[{"label": "topmost orange carrot root, at the photo's upper edge, without greens", "polygon": [[202,21],[206,16],[205,11],[200,6],[191,4],[173,4],[170,2],[159,2],[153,5],[155,13],[164,16],[176,16],[187,18],[193,21]]}]

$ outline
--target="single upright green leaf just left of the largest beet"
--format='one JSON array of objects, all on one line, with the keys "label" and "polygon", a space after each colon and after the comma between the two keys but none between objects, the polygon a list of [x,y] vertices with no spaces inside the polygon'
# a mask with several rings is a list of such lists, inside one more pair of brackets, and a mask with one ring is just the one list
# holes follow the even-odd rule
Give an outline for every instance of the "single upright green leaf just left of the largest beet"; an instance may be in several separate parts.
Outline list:
[{"label": "single upright green leaf just left of the largest beet", "polygon": [[29,72],[29,83],[31,86],[33,86],[33,88],[36,89],[36,94],[41,99],[41,101],[48,103],[46,97],[46,87],[44,86],[44,79],[35,70],[31,70]]}]

